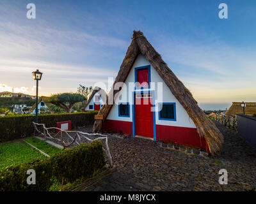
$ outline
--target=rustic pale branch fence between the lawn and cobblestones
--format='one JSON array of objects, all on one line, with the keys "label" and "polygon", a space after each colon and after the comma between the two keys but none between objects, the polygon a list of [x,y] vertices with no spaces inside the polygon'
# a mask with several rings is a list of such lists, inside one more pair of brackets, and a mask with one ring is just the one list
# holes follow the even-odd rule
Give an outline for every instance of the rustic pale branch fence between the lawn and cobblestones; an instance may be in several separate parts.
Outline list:
[{"label": "rustic pale branch fence between the lawn and cobblestones", "polygon": [[[32,122],[33,123],[33,126],[35,128],[35,131],[37,131],[38,133],[44,135],[44,138],[45,140],[47,138],[49,139],[54,139],[54,140],[58,140],[59,142],[61,142],[63,148],[67,148],[69,147],[70,145],[72,145],[72,143],[76,142],[77,145],[81,145],[81,137],[85,138],[86,140],[90,141],[90,142],[93,142],[93,141],[97,141],[97,140],[106,140],[106,149],[104,149],[102,147],[102,149],[106,152],[107,156],[108,156],[108,159],[109,159],[109,162],[110,162],[110,165],[112,166],[113,165],[113,162],[112,162],[112,157],[111,157],[111,154],[110,154],[110,151],[109,151],[109,147],[108,147],[108,135],[102,135],[100,133],[84,133],[84,132],[81,132],[81,131],[68,131],[68,130],[63,130],[63,129],[60,129],[60,128],[45,128],[45,124],[39,124],[39,123],[35,123],[35,122]],[[38,128],[36,126],[43,126],[43,129],[44,129],[44,133],[42,133],[41,131],[38,130]],[[56,130],[59,130],[58,133],[56,133],[55,135],[55,138],[52,137],[50,134],[49,134],[49,129],[56,129]],[[67,134],[67,136],[72,140],[72,142],[67,145],[67,143],[65,143],[63,141],[63,138],[62,138],[62,133],[65,132]],[[61,139],[58,139],[56,138],[56,136],[61,133]],[[72,136],[70,136],[68,133],[76,133],[76,136],[75,138],[72,138]],[[81,134],[81,135],[80,135]],[[95,139],[90,139],[88,137],[86,137],[85,135],[87,136],[100,136],[99,138],[95,138]],[[76,139],[78,138],[79,142],[76,141]]]}]

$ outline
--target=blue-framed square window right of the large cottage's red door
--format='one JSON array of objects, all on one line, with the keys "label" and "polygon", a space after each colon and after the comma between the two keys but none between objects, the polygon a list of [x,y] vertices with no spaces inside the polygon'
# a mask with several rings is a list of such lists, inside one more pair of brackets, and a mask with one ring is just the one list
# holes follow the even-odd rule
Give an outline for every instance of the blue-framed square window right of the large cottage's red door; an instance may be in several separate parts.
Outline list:
[{"label": "blue-framed square window right of the large cottage's red door", "polygon": [[175,103],[159,103],[158,105],[159,120],[176,121],[176,104]]}]

